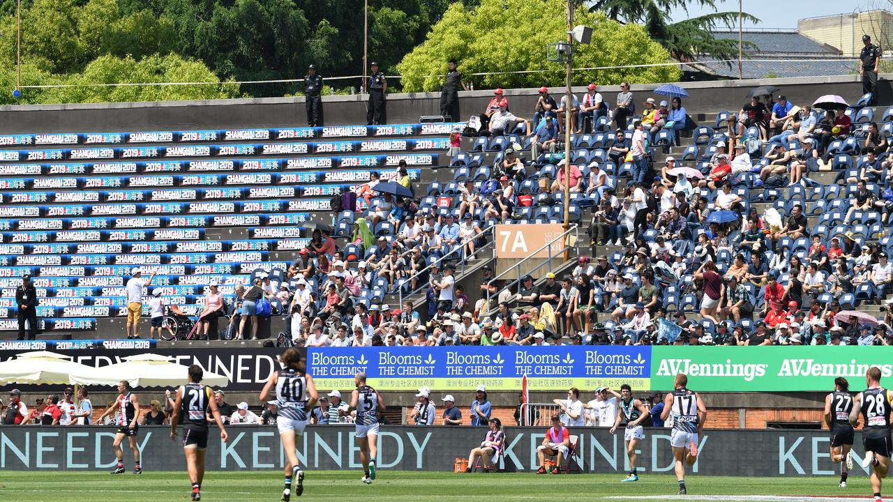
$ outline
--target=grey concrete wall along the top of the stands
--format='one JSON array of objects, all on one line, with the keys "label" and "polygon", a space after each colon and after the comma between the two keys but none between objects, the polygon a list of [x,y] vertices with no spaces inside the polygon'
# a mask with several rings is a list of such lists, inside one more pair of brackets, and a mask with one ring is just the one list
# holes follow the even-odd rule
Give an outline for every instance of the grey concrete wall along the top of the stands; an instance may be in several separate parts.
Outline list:
[{"label": "grey concrete wall along the top of the stands", "polygon": [[[881,75],[878,82],[880,104],[893,100],[890,75]],[[747,101],[749,88],[764,84],[780,87],[780,93],[798,105],[813,103],[817,96],[838,94],[849,102],[855,102],[862,94],[862,83],[857,75],[840,77],[808,77],[796,79],[745,79],[709,82],[687,82],[689,90],[684,100],[689,113],[696,121],[697,113],[715,113],[727,110]],[[656,84],[632,86],[637,105],[656,88]],[[560,92],[559,89],[554,89]],[[574,88],[582,94],[585,88]],[[613,103],[619,86],[603,86],[599,92],[606,101]],[[463,91],[459,93],[462,117],[482,113],[493,96],[490,90]],[[510,110],[528,117],[538,89],[505,89]],[[423,115],[438,115],[439,93],[410,93],[388,95],[388,121],[390,123],[414,123]],[[363,124],[366,121],[366,101],[361,96],[325,96],[325,115],[329,125]],[[639,105],[640,107],[640,105]],[[265,99],[225,99],[214,101],[169,101],[158,103],[104,103],[77,105],[7,105],[0,106],[4,117],[0,121],[0,133],[23,132],[87,132],[118,130],[190,130],[207,128],[253,128],[295,126],[306,123],[303,97]],[[708,125],[713,125],[712,123]]]}]

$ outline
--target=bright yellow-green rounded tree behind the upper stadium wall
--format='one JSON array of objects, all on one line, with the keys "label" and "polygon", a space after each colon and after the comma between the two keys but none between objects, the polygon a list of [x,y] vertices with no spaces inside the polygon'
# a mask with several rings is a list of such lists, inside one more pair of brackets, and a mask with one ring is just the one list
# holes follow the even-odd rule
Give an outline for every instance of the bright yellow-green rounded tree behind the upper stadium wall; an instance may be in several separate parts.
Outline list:
[{"label": "bright yellow-green rounded tree behind the upper stadium wall", "polygon": [[[416,92],[440,88],[450,58],[459,60],[460,71],[465,79],[474,81],[476,88],[563,85],[564,65],[547,62],[546,46],[566,39],[565,5],[561,0],[481,0],[471,10],[461,3],[450,5],[425,43],[397,65],[404,89]],[[604,13],[588,13],[583,8],[574,13],[574,24],[594,27],[588,46],[574,45],[576,68],[667,63],[670,59],[670,54],[638,24],[622,25],[608,20]],[[519,73],[538,70],[547,71]],[[472,76],[478,72],[494,74]],[[575,85],[679,78],[680,71],[674,66],[573,73]]]}]

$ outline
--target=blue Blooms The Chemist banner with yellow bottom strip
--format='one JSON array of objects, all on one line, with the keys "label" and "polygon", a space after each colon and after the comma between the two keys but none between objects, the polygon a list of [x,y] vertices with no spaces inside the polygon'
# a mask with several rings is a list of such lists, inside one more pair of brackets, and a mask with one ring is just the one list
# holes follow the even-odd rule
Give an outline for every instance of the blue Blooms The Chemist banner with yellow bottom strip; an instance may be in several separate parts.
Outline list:
[{"label": "blue Blooms The Chemist banner with yellow bottom strip", "polygon": [[307,367],[321,389],[350,388],[365,372],[389,390],[518,390],[524,375],[532,390],[645,390],[652,364],[651,347],[321,347],[307,349]]}]

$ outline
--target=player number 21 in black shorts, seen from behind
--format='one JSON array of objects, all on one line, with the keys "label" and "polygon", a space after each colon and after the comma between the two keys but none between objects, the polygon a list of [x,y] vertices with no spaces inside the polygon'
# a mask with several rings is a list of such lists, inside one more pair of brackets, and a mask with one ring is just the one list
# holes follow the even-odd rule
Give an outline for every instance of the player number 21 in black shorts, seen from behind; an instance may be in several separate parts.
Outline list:
[{"label": "player number 21 in black shorts, seen from behind", "polygon": [[186,471],[192,482],[192,499],[202,499],[204,480],[204,449],[208,448],[207,414],[212,414],[214,422],[221,430],[221,440],[226,442],[226,429],[223,428],[220,410],[214,401],[211,388],[202,385],[204,372],[198,364],[188,369],[188,383],[177,389],[171,414],[171,441],[177,440],[177,424],[183,418],[183,454],[186,455]]}]

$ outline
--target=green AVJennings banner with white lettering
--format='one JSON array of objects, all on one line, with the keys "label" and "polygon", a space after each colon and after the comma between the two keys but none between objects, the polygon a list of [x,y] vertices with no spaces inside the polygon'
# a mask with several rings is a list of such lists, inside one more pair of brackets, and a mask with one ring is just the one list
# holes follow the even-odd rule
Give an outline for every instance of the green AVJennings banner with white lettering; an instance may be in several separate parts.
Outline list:
[{"label": "green AVJennings banner with white lettering", "polygon": [[893,375],[893,347],[652,347],[651,388],[672,389],[683,372],[697,391],[830,391],[841,376],[862,390],[872,366]]}]

